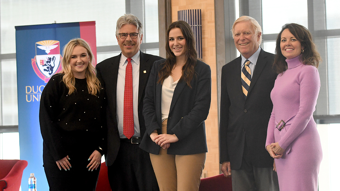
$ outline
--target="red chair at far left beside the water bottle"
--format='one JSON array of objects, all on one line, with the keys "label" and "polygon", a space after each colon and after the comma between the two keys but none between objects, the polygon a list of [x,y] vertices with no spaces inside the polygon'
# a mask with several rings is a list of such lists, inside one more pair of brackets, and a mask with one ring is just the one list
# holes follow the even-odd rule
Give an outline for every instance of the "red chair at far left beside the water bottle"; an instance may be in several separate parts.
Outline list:
[{"label": "red chair at far left beside the water bottle", "polygon": [[19,191],[26,160],[0,160],[0,190]]}]

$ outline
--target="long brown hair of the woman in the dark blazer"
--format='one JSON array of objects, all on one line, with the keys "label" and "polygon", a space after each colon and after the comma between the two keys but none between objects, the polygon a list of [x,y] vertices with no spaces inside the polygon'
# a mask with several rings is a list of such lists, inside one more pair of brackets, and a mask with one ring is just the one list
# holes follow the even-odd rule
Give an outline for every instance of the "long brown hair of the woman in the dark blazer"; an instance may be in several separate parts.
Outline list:
[{"label": "long brown hair of the woman in the dark blazer", "polygon": [[171,74],[171,71],[174,65],[176,64],[176,56],[173,54],[173,52],[171,52],[170,46],[169,46],[169,32],[173,28],[179,28],[182,31],[184,39],[185,39],[185,50],[186,50],[187,61],[182,68],[182,76],[180,80],[185,80],[187,85],[191,88],[190,82],[195,74],[194,67],[197,63],[197,51],[196,51],[196,41],[195,41],[195,37],[192,32],[192,29],[189,26],[189,24],[185,21],[175,21],[170,24],[167,30],[167,44],[165,47],[165,50],[167,52],[167,59],[162,64],[163,68],[160,69],[160,71],[158,72],[159,79],[157,83],[163,84],[164,79],[167,78]]}]

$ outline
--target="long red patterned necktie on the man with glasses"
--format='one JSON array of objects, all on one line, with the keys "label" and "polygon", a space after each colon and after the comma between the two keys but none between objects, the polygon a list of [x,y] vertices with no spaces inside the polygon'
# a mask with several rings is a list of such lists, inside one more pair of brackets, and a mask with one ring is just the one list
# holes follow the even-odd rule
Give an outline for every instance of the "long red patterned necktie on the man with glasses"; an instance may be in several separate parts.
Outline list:
[{"label": "long red patterned necktie on the man with glasses", "polygon": [[123,134],[130,139],[135,134],[133,123],[132,64],[128,58],[125,69]]}]

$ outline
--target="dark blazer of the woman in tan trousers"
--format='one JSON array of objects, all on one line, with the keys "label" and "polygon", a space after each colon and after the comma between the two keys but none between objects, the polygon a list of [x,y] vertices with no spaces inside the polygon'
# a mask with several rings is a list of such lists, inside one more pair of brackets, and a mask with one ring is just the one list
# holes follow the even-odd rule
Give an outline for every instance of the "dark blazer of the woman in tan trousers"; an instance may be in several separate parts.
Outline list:
[{"label": "dark blazer of the woman in tan trousers", "polygon": [[[158,71],[163,68],[164,60],[154,63],[146,87],[143,115],[147,133],[140,148],[158,154],[160,147],[150,138],[157,129],[162,133],[162,84],[157,83]],[[205,124],[211,101],[211,71],[209,65],[197,61],[195,76],[190,82],[191,89],[180,80],[173,93],[167,123],[167,134],[175,134],[179,141],[171,143],[168,154],[188,155],[208,152]]]}]

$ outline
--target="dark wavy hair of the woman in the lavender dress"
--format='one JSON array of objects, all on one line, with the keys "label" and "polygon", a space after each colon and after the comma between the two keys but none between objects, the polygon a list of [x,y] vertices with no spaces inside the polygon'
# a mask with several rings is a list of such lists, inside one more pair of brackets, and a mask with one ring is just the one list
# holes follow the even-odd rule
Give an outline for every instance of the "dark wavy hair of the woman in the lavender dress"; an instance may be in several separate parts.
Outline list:
[{"label": "dark wavy hair of the woman in the lavender dress", "polygon": [[282,26],[281,32],[277,35],[276,38],[276,48],[275,48],[275,60],[273,63],[273,68],[276,70],[278,74],[287,70],[287,62],[286,57],[283,56],[281,52],[281,34],[287,29],[289,32],[294,35],[294,37],[301,43],[301,46],[304,47],[301,57],[301,61],[303,64],[312,65],[318,68],[319,62],[321,62],[321,57],[319,52],[316,49],[316,46],[313,42],[312,35],[307,30],[306,27],[296,24],[296,23],[287,23]]}]

